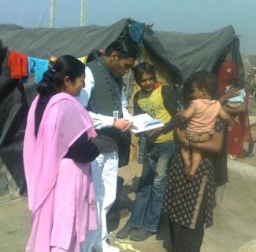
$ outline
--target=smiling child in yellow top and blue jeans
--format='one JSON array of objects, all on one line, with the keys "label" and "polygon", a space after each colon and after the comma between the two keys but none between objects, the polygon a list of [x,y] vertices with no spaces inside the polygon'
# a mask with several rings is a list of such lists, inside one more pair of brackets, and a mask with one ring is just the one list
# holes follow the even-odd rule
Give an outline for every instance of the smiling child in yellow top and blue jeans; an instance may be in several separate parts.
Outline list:
[{"label": "smiling child in yellow top and blue jeans", "polygon": [[134,76],[140,86],[134,97],[134,115],[147,113],[165,124],[147,132],[143,173],[135,195],[135,205],[130,219],[117,232],[119,239],[129,236],[132,240],[143,241],[158,232],[167,180],[166,170],[175,151],[173,124],[178,105],[175,89],[156,82],[152,65],[146,62],[138,64],[134,69]]}]

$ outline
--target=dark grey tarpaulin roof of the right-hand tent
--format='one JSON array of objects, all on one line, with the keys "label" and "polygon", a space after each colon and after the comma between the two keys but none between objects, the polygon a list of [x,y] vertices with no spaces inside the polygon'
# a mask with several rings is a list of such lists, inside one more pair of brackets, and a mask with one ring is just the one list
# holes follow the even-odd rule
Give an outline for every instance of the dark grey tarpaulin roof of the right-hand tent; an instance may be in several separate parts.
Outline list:
[{"label": "dark grey tarpaulin roof of the right-hand tent", "polygon": [[197,34],[158,31],[158,38],[180,66],[184,81],[196,71],[206,70],[217,74],[228,53],[237,64],[240,77],[244,77],[239,38],[232,25]]}]

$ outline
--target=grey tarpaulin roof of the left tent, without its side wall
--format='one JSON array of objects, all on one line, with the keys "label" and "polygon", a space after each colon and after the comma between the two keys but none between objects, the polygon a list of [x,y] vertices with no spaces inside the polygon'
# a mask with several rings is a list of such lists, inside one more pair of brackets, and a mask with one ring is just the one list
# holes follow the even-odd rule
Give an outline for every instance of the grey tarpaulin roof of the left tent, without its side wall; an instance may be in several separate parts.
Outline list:
[{"label": "grey tarpaulin roof of the left tent, without its side wall", "polygon": [[[0,25],[0,39],[9,49],[20,51],[29,57],[48,58],[50,55],[63,54],[83,57],[92,49],[106,49],[119,36],[127,35],[128,25],[134,22],[135,20],[127,18],[108,27],[88,25],[64,28],[24,28],[3,24]],[[180,68],[151,29],[145,32],[143,44],[173,71],[173,79],[180,82]]]}]

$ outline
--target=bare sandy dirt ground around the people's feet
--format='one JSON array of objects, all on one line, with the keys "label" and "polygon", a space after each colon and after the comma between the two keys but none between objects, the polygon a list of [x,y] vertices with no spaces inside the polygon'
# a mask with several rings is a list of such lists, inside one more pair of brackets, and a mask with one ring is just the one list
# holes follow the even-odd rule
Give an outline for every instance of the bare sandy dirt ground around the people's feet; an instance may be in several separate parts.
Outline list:
[{"label": "bare sandy dirt ground around the people's feet", "polygon": [[[120,170],[119,175],[124,177],[121,207],[131,210],[141,168],[137,163],[131,163]],[[213,227],[206,229],[202,252],[235,252],[244,243],[256,239],[256,166],[229,160],[228,175],[224,198],[218,197]],[[109,221],[111,243],[120,247],[122,252],[171,252],[166,216],[161,218],[158,235],[151,236],[146,242],[115,238],[127,220],[128,217]],[[0,205],[0,251],[24,252],[30,223],[27,197]]]}]

